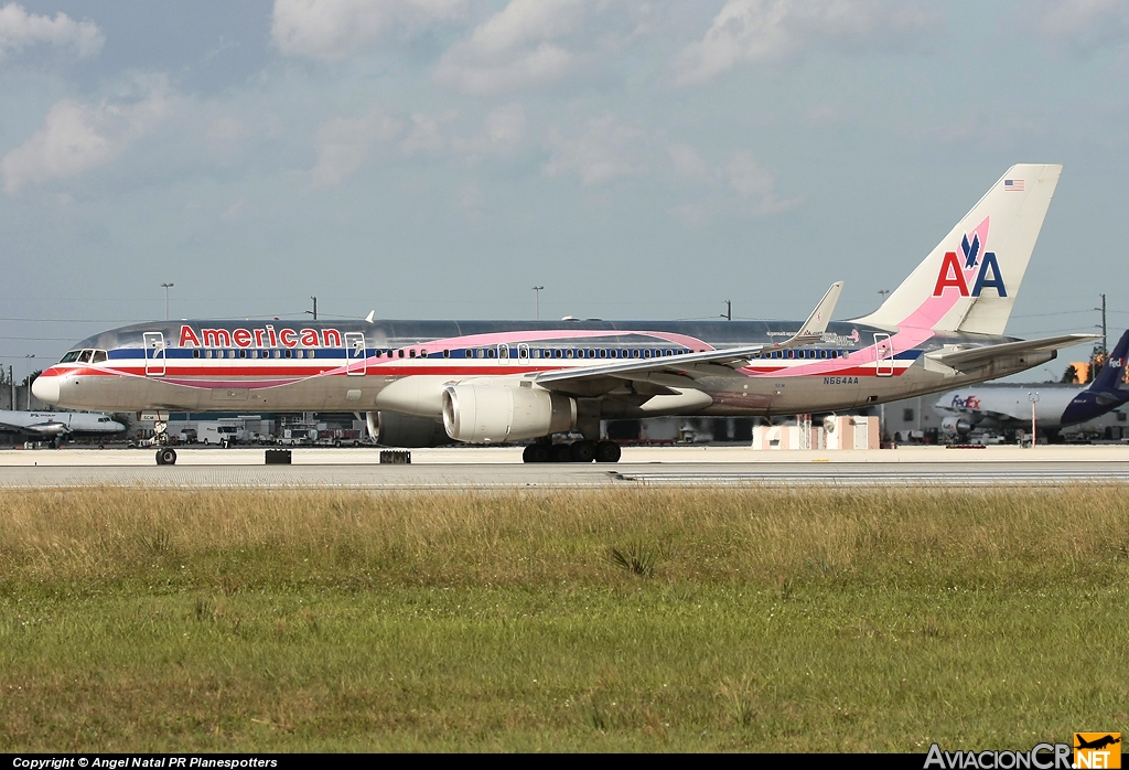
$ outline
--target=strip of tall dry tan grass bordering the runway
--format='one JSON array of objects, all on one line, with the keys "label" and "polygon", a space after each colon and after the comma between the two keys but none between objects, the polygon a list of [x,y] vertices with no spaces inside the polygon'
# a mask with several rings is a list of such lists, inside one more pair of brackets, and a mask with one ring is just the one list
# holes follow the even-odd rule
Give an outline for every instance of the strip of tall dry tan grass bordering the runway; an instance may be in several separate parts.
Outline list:
[{"label": "strip of tall dry tan grass bordering the runway", "polygon": [[[1126,491],[628,490],[555,495],[149,492],[6,495],[8,580],[125,578],[203,560],[272,584],[539,585],[607,579],[609,549],[671,580],[772,584],[816,574],[1100,571],[1129,555]],[[253,555],[253,558],[248,558]],[[238,557],[238,558],[234,558]],[[234,558],[234,559],[233,559]],[[875,567],[882,569],[875,575]]]}]

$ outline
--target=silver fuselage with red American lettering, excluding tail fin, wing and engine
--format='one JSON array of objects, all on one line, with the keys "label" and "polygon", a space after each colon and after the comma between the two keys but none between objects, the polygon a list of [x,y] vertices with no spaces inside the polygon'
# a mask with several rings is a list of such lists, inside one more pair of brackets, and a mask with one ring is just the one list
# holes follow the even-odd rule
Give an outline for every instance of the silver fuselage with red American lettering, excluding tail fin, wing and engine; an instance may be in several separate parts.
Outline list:
[{"label": "silver fuselage with red American lettering, excluding tail fin, wing and engine", "polygon": [[[796,322],[356,323],[184,321],[91,336],[43,375],[54,403],[102,410],[356,411],[439,419],[452,382],[513,380],[534,373],[688,352],[771,345]],[[828,325],[822,341],[753,356],[746,366],[688,366],[648,379],[601,377],[564,388],[598,417],[771,415],[864,406],[982,382],[1051,360],[998,358],[956,373],[925,353],[1010,341],[983,334]],[[72,359],[72,360],[68,360]]]}]

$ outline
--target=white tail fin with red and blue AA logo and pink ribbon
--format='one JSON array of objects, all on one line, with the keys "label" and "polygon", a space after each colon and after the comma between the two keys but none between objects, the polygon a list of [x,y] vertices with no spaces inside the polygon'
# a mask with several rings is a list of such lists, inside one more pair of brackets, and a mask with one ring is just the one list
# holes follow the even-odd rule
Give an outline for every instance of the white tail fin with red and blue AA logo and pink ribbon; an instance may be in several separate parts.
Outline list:
[{"label": "white tail fin with red and blue AA logo and pink ribbon", "polygon": [[860,324],[1003,334],[1062,166],[1018,164]]}]

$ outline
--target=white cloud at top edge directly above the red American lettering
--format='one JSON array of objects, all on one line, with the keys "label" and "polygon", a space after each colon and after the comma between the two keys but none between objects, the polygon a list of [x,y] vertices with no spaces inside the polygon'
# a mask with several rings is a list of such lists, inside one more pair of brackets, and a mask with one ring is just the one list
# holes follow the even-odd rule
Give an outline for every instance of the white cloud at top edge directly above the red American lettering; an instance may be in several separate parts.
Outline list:
[{"label": "white cloud at top edge directly above the red American lettering", "polygon": [[335,60],[392,27],[415,29],[462,15],[465,0],[274,0],[271,35],[283,53]]}]

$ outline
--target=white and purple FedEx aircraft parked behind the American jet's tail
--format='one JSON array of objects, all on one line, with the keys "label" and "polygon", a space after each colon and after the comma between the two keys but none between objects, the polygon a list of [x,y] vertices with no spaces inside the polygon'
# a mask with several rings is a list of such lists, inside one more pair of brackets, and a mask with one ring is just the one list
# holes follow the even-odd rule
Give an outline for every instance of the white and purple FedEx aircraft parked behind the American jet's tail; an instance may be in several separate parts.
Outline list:
[{"label": "white and purple FedEx aircraft parked behind the American jet's tail", "polygon": [[961,390],[946,393],[937,409],[952,412],[940,426],[948,434],[968,436],[973,430],[1014,430],[1031,426],[1030,393],[1039,393],[1035,402],[1035,425],[1048,435],[1105,414],[1129,401],[1129,388],[1121,387],[1129,352],[1129,331],[1113,347],[1110,360],[1088,387],[1032,386]]}]

